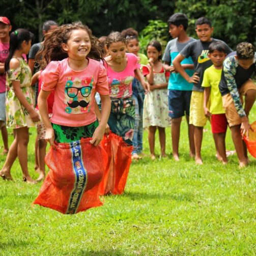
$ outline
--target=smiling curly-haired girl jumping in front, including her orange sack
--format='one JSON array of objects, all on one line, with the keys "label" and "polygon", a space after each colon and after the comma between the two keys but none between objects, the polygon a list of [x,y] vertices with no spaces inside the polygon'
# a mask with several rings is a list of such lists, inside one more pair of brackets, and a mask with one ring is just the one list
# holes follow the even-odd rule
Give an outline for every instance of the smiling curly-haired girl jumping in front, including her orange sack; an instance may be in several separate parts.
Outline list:
[{"label": "smiling curly-haired girl jumping in front, including her orange sack", "polygon": [[[81,22],[62,25],[46,36],[37,61],[43,70],[38,106],[51,148],[45,158],[50,172],[34,203],[66,214],[100,206],[97,184],[106,156],[95,146],[104,134],[110,99],[97,39]],[[94,112],[96,91],[102,104],[100,123]]]}]

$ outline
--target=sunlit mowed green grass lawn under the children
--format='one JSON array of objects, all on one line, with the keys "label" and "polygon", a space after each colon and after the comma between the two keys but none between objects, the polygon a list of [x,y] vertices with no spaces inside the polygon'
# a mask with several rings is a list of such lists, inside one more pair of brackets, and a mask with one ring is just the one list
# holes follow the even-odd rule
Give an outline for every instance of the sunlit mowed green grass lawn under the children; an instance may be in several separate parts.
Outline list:
[{"label": "sunlit mowed green grass lawn under the children", "polygon": [[[41,183],[22,182],[16,160],[15,181],[0,180],[0,255],[255,255],[256,159],[239,169],[234,155],[222,165],[209,123],[206,129],[203,166],[189,158],[183,121],[179,162],[170,155],[168,128],[168,158],[133,162],[123,195],[105,196],[102,207],[76,215],[32,206]],[[36,129],[30,132],[29,168],[36,179]],[[234,150],[230,131],[226,145]],[[144,149],[149,155],[147,131]],[[158,140],[156,149],[159,154]]]}]

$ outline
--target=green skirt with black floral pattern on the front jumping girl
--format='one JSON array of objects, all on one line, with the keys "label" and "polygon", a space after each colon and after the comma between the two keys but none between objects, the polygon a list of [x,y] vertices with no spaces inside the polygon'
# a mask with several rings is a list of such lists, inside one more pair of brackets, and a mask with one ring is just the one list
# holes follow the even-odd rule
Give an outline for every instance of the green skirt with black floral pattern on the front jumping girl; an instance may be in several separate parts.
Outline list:
[{"label": "green skirt with black floral pattern on the front jumping girl", "polygon": [[81,138],[91,138],[95,129],[98,127],[98,121],[89,125],[70,127],[64,125],[51,124],[54,130],[55,141],[57,143],[70,143]]}]

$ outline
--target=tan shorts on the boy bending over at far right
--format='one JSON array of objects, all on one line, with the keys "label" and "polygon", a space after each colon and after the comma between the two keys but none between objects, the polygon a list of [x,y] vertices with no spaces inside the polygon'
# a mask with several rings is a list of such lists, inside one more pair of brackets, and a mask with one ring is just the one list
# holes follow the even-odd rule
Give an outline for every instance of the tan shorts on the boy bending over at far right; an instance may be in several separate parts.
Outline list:
[{"label": "tan shorts on the boy bending over at far right", "polygon": [[[246,95],[246,92],[248,90],[256,90],[256,85],[251,79],[246,81],[242,85],[242,87],[238,90],[242,104],[243,104],[242,96]],[[232,127],[235,125],[240,125],[242,123],[242,120],[241,120],[240,116],[238,115],[234,100],[230,93],[222,96],[222,103],[223,103],[223,107],[225,109],[225,115],[226,115],[227,122],[229,123],[229,126]]]}]

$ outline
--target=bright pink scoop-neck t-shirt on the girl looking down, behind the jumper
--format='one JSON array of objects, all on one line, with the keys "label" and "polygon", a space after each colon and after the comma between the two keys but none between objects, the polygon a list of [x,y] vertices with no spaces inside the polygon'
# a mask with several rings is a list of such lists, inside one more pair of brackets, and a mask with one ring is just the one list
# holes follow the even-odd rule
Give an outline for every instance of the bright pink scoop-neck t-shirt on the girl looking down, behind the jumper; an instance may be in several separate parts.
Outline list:
[{"label": "bright pink scoop-neck t-shirt on the girl looking down, behind the jumper", "polygon": [[132,80],[134,70],[138,68],[138,59],[133,53],[126,53],[127,65],[121,72],[113,71],[107,64],[109,94],[111,98],[128,98],[132,96]]}]

